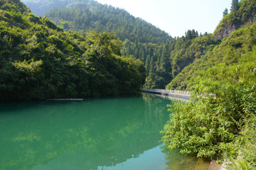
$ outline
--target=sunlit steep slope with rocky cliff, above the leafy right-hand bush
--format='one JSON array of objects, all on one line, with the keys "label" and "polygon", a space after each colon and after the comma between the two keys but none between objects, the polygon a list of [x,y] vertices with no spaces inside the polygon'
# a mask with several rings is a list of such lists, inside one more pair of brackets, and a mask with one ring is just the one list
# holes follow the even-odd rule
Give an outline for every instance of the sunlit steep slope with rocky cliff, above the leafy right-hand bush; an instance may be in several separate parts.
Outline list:
[{"label": "sunlit steep slope with rocky cliff, above the leafy right-hand bush", "polygon": [[[206,52],[206,55],[201,56],[201,59],[195,60],[192,64],[185,67],[182,72],[166,86],[166,89],[189,90],[199,72],[205,71],[216,64],[223,63],[233,65],[235,63],[242,64],[256,60],[256,26],[255,22],[252,23],[256,15],[256,1],[240,1],[239,6],[238,10],[232,11],[228,16],[225,16],[215,30],[215,37],[221,35],[220,38],[224,38],[225,36],[228,36],[228,38],[224,38],[220,45]],[[233,21],[234,17],[239,19],[238,23],[240,23],[239,26],[242,28],[235,30],[234,27],[234,30],[231,31],[230,26],[232,24],[230,25],[230,22]],[[245,23],[245,21],[248,22]],[[225,31],[223,32],[222,30],[230,30],[230,32],[225,33]]]}]

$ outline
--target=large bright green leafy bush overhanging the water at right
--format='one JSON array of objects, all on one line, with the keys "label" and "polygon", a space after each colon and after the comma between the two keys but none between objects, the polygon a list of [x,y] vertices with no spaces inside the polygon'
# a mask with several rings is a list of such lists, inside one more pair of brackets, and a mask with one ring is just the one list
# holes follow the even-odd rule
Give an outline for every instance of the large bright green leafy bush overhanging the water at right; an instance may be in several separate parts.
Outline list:
[{"label": "large bright green leafy bush overhanging the water at right", "polygon": [[[163,140],[184,154],[216,158],[237,154],[233,145],[255,148],[255,134],[245,129],[255,121],[256,67],[249,64],[220,64],[196,78],[191,103],[176,103]],[[255,123],[252,124],[255,128]],[[255,153],[252,153],[255,155]],[[255,162],[256,157],[247,157]]]}]

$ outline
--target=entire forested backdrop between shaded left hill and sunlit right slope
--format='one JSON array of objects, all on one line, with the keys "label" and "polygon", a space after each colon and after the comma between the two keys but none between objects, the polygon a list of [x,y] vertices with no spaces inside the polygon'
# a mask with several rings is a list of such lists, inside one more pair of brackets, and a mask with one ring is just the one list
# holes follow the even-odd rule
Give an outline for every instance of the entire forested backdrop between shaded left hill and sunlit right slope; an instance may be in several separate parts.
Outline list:
[{"label": "entire forested backdrop between shaded left hill and sunlit right slope", "polygon": [[[49,6],[48,9],[56,4],[56,1],[50,0],[23,1],[31,6],[32,12],[38,10],[36,3],[37,6]],[[122,54],[134,56],[144,62],[146,88],[164,89],[186,65],[219,43],[211,38],[211,34],[199,35],[196,30],[188,30],[181,38],[171,38],[164,31],[141,18],[131,16],[127,11],[98,4],[96,1],[58,1],[60,6],[65,4],[66,8],[55,7],[47,11],[46,16],[64,30],[78,30],[84,33],[94,28],[100,32],[117,33],[123,41]],[[43,10],[45,8],[41,9]]]}]

